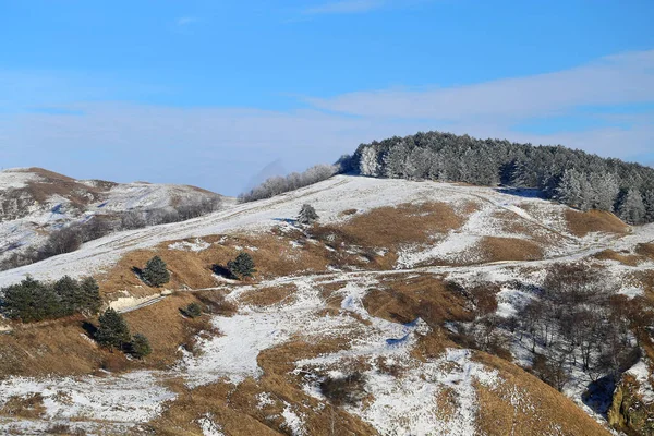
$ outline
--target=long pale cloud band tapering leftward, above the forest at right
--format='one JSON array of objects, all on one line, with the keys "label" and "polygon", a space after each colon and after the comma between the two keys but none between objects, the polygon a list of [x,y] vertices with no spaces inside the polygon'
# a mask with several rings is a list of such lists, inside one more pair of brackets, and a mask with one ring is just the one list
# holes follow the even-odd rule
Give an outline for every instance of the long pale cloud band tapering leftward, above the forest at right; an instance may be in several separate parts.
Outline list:
[{"label": "long pale cloud band tapering leftward, above the forest at right", "polygon": [[307,98],[363,117],[461,120],[564,113],[583,105],[654,101],[654,50],[606,57],[571,70],[426,90],[356,92]]}]

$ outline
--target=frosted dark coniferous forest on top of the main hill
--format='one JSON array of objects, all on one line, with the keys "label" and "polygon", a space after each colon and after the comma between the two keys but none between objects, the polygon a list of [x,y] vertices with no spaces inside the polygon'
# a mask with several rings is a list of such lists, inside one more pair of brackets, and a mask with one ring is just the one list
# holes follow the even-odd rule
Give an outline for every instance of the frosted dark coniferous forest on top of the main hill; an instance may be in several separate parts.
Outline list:
[{"label": "frosted dark coniferous forest on top of the main hill", "polygon": [[537,189],[581,210],[608,210],[632,225],[654,222],[654,169],[564,146],[420,132],[361,144],[343,172]]}]

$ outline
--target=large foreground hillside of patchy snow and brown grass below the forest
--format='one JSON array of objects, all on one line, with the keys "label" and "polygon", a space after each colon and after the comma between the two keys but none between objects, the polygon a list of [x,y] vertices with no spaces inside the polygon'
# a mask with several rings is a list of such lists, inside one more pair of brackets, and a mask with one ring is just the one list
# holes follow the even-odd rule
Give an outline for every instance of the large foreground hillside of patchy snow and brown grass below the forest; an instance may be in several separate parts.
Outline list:
[{"label": "large foreground hillside of patchy snow and brown grass below the forest", "polygon": [[[645,311],[654,295],[654,226],[538,195],[337,175],[2,271],[0,287],[25,275],[95,276],[105,301],[150,338],[154,352],[134,362],[104,351],[80,317],[5,320],[0,426],[19,434],[60,424],[170,435],[600,435],[617,432],[610,421],[641,432],[652,392],[647,330],[620,336],[629,350],[638,339],[643,355],[617,366],[602,362],[616,350],[606,338],[593,342],[600,351],[590,351],[589,368],[583,347],[568,351],[579,362],[566,361],[559,392],[545,383],[556,385],[538,356],[558,352],[564,332],[546,332],[543,343],[544,318],[529,331],[521,318],[530,303],[556,301],[548,292],[561,281],[579,280],[585,306],[614,316],[602,299],[622,295],[626,326],[635,326],[629,302]],[[294,222],[305,203],[318,225]],[[254,258],[254,279],[234,281],[216,267],[239,252]],[[172,294],[132,272],[154,254],[168,264]],[[185,318],[179,308],[191,302],[211,314]],[[615,371],[619,400],[597,388]]]}]

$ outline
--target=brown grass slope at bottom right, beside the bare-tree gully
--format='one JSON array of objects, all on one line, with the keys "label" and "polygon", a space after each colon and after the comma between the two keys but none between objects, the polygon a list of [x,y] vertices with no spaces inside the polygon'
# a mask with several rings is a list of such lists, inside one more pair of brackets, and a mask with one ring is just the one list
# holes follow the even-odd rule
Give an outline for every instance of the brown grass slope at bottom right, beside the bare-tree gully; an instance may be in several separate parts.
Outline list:
[{"label": "brown grass slope at bottom right, beside the bare-tree gully", "polygon": [[[556,389],[512,363],[477,352],[474,359],[499,371],[497,387],[475,384],[477,424],[488,435],[609,435],[591,416]],[[512,404],[513,403],[513,404]]]}]

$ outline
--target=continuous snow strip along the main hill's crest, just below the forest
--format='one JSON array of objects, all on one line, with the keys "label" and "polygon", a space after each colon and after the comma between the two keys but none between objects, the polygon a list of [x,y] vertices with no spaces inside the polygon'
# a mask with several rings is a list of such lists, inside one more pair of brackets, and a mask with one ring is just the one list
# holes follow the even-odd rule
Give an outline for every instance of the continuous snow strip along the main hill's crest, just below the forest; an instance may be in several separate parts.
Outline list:
[{"label": "continuous snow strip along the main hill's crest, just below the forest", "polygon": [[[512,211],[519,219],[530,222],[537,221],[540,226],[564,234],[566,243],[559,246],[556,253],[550,253],[552,257],[561,259],[585,257],[608,246],[619,250],[632,247],[638,242],[654,240],[654,225],[639,228],[633,234],[619,241],[598,238],[596,234],[576,238],[569,234],[561,219],[556,219],[556,217],[550,217],[549,220],[536,219],[524,209],[517,208],[519,204],[533,204],[554,213],[558,210],[562,215],[564,206],[540,198],[502,194],[491,187],[337,175],[270,199],[234,205],[189,221],[110,234],[86,243],[74,253],[2,271],[0,272],[0,287],[20,281],[27,274],[37,279],[56,279],[63,275],[78,277],[98,274],[107,270],[129,251],[153,247],[165,241],[270,228],[278,225],[279,220],[294,218],[304,203],[312,204],[320,216],[320,222],[328,223],[346,219],[341,213],[348,209],[355,208],[365,211],[382,206],[431,201],[451,203],[455,206],[467,201],[482,201],[488,206],[473,214],[461,231],[448,235],[435,245],[415,250],[408,249],[400,253],[398,267],[411,267],[438,255],[446,258],[457,256],[464,253],[480,237],[501,235],[498,234],[494,220],[489,218],[489,214],[498,209]],[[518,211],[516,211],[517,209]],[[511,237],[519,235],[511,234]],[[198,250],[198,246],[181,244],[173,249]]]}]

